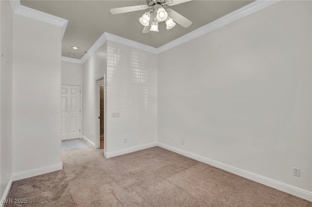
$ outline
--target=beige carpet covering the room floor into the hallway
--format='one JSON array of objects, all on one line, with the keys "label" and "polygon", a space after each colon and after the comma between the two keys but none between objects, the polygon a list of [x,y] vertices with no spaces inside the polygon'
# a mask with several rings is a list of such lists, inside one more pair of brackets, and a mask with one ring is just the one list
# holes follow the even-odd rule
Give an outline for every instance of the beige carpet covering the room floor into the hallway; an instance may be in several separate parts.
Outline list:
[{"label": "beige carpet covering the room floor into the hallway", "polygon": [[312,207],[312,203],[159,147],[110,159],[62,151],[63,169],[13,182],[5,207]]}]

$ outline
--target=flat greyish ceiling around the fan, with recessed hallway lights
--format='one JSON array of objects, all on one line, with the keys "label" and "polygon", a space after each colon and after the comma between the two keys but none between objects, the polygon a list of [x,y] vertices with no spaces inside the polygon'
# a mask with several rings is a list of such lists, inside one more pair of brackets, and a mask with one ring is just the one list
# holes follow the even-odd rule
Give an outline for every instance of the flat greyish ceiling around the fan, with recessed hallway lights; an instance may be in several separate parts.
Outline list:
[{"label": "flat greyish ceiling around the fan, with recessed hallway lights", "polygon": [[[142,34],[138,19],[145,10],[112,15],[111,8],[146,4],[145,0],[21,0],[27,6],[68,20],[62,40],[62,56],[80,59],[84,52],[104,33],[110,33],[145,45],[158,48],[186,35],[220,17],[223,17],[253,0],[192,0],[170,8],[193,24],[184,28],[178,24],[167,30],[159,23],[159,32]],[[147,11],[147,10],[146,10]],[[71,46],[78,46],[73,50]],[[69,53],[74,53],[70,56]]]}]

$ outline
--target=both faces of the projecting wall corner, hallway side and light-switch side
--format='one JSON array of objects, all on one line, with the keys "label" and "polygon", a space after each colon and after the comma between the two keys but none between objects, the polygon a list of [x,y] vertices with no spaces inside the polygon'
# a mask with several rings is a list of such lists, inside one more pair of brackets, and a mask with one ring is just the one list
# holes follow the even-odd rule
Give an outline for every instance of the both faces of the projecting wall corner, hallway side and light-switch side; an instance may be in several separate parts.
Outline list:
[{"label": "both faces of the projecting wall corner, hallway side and light-switch side", "polygon": [[[107,69],[107,70],[106,70]],[[107,72],[106,72],[107,71]],[[83,136],[96,143],[96,79],[105,77],[106,157],[156,145],[157,56],[112,41],[83,64]],[[112,113],[120,113],[112,118]],[[127,143],[124,143],[124,139]]]}]

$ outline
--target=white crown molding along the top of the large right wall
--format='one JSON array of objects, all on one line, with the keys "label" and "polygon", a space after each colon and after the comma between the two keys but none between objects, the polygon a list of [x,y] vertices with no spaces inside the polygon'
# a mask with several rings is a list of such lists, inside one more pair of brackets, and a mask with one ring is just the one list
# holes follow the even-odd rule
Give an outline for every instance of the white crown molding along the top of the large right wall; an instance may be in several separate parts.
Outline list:
[{"label": "white crown molding along the top of the large right wall", "polygon": [[216,19],[215,21],[206,24],[180,38],[177,38],[161,47],[157,48],[157,54],[160,54],[162,52],[165,52],[167,50],[170,50],[180,44],[183,44],[185,42],[188,42],[192,39],[198,38],[202,35],[205,35],[215,29],[218,29],[226,24],[229,24],[235,20],[241,19],[243,17],[246,17],[254,12],[257,12],[261,9],[264,9],[268,6],[273,5],[274,3],[277,3],[281,0],[256,0],[250,4],[247,4],[246,6],[239,8],[235,10],[234,12],[231,12],[228,15],[225,15],[219,19]]}]

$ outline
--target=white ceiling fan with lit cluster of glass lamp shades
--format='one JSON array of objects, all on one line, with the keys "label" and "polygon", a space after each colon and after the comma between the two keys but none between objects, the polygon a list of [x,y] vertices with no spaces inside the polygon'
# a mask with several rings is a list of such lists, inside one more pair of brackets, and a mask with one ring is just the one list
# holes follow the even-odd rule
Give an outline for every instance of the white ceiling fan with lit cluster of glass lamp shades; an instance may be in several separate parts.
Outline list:
[{"label": "white ceiling fan with lit cluster of glass lamp shades", "polygon": [[111,9],[110,11],[112,14],[121,14],[150,9],[139,19],[140,23],[144,26],[142,33],[149,33],[150,31],[158,32],[158,23],[161,21],[166,22],[167,29],[173,28],[176,23],[184,28],[187,28],[192,24],[192,21],[168,8],[169,6],[174,6],[187,1],[191,0],[146,0],[147,4],[144,5],[119,7]]}]

